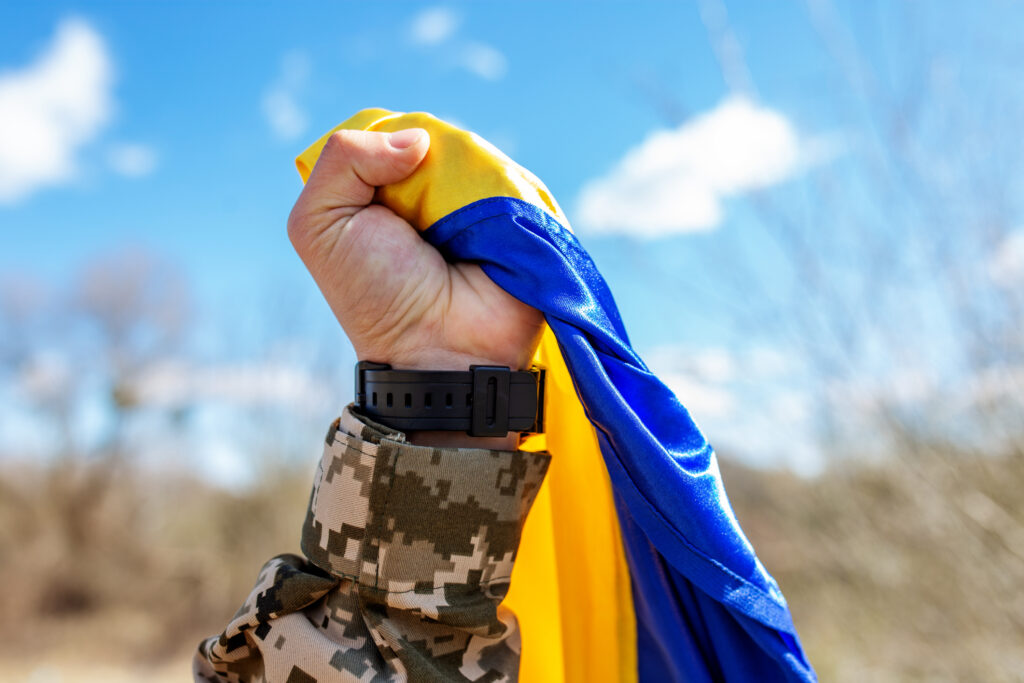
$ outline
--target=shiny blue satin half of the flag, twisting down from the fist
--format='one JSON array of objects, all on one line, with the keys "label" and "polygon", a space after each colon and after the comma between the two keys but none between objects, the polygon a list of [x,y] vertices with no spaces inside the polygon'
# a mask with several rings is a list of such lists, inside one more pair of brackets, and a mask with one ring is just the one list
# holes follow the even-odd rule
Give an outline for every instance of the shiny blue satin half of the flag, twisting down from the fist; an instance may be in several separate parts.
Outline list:
[{"label": "shiny blue satin half of the flag, twisting down from the fist", "polygon": [[512,198],[474,202],[424,238],[479,263],[558,339],[611,477],[644,681],[814,681],[775,581],[733,515],[711,445],[630,345],[575,237]]}]

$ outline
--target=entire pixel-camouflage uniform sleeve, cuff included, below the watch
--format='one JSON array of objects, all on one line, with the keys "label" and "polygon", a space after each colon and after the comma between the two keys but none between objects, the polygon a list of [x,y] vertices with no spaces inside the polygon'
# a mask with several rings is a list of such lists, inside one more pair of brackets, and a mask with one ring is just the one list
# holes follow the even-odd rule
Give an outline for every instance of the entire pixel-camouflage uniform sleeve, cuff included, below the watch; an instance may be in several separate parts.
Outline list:
[{"label": "entire pixel-camouflage uniform sleeve, cuff included, below the watch", "polygon": [[328,431],[302,552],[267,562],[197,681],[514,681],[508,591],[547,454],[435,449],[358,416]]}]

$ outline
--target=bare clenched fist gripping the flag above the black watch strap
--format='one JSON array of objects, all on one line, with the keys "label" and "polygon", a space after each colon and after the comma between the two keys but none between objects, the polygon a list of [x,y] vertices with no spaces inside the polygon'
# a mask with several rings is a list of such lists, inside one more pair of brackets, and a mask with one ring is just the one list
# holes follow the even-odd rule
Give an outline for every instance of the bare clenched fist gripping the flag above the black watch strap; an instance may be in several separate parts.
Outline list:
[{"label": "bare clenched fist gripping the flag above the black watch strap", "polygon": [[335,133],[292,209],[288,234],[359,359],[396,369],[525,369],[543,315],[479,266],[445,262],[407,221],[372,204],[375,187],[407,178],[429,145],[419,128]]}]

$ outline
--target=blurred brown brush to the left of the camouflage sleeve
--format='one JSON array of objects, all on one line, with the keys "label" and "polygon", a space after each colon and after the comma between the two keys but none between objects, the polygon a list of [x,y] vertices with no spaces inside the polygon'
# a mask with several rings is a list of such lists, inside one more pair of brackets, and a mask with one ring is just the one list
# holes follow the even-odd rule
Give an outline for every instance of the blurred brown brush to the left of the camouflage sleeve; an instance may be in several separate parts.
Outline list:
[{"label": "blurred brown brush to the left of the camouflage sleeve", "polygon": [[110,463],[3,471],[0,658],[187,655],[223,628],[265,560],[298,552],[311,474],[271,472],[232,494]]}]

